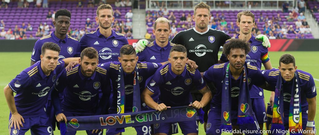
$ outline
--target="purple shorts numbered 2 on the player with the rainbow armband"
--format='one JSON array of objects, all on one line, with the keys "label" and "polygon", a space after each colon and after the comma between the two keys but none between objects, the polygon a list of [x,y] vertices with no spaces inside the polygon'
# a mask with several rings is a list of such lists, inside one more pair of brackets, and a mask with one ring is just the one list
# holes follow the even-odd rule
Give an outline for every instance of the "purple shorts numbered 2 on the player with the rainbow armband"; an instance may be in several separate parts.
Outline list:
[{"label": "purple shorts numbered 2 on the player with the rainbow armband", "polygon": [[263,98],[251,98],[250,100],[257,123],[263,124],[267,122],[265,100]]}]

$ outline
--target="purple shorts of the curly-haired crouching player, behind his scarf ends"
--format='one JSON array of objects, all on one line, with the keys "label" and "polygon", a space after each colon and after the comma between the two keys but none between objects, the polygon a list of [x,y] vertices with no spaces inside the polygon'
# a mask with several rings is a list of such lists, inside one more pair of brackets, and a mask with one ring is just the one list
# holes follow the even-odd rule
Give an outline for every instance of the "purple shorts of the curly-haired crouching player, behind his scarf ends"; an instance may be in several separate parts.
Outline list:
[{"label": "purple shorts of the curly-haired crouching player, behind his scarf ends", "polygon": [[[255,114],[253,113],[255,124],[238,125],[237,123],[237,111],[232,110],[232,125],[239,126],[241,130],[260,130]],[[219,127],[221,125],[221,109],[211,108],[208,112],[208,121],[206,125],[206,135],[221,135]],[[260,135],[260,133],[250,133],[246,135]]]}]

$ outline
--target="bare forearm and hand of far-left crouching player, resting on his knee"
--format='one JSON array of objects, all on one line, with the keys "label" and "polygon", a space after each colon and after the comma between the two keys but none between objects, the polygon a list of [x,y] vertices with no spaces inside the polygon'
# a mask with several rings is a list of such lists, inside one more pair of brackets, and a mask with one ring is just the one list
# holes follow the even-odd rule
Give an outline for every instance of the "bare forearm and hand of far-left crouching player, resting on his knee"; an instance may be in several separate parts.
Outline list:
[{"label": "bare forearm and hand of far-left crouching player, resting on his knee", "polygon": [[24,123],[23,117],[18,113],[17,107],[14,102],[14,96],[13,96],[13,91],[9,87],[9,85],[4,87],[4,96],[5,99],[7,100],[9,109],[11,111],[11,124],[9,125],[11,128],[14,126],[14,129],[19,129],[20,126],[23,127],[22,122]]}]

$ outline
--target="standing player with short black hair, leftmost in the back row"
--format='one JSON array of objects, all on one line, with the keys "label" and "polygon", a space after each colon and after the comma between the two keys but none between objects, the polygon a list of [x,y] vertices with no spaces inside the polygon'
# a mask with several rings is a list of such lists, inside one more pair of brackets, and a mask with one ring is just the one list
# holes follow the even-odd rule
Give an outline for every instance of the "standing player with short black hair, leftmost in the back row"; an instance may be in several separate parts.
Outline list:
[{"label": "standing player with short black hair, leftmost in the back row", "polygon": [[59,60],[80,56],[81,50],[78,40],[66,34],[71,25],[71,12],[66,9],[59,9],[56,11],[54,18],[53,25],[55,31],[35,42],[31,56],[31,65],[40,60],[41,46],[44,42],[54,42],[59,45],[61,48]]}]

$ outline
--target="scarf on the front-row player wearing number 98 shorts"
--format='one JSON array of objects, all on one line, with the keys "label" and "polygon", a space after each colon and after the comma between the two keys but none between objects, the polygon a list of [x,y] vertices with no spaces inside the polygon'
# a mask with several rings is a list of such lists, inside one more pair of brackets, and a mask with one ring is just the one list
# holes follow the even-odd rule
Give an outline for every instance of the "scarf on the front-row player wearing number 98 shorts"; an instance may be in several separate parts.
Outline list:
[{"label": "scarf on the front-row player wearing number 98 shorts", "polygon": [[[134,80],[133,80],[133,112],[141,111],[141,95],[138,83],[138,70],[137,65],[135,66],[134,71]],[[119,75],[117,79],[117,101],[120,105],[117,105],[117,114],[124,113],[125,110],[125,88],[124,88],[124,71],[122,66],[119,69]]]}]

